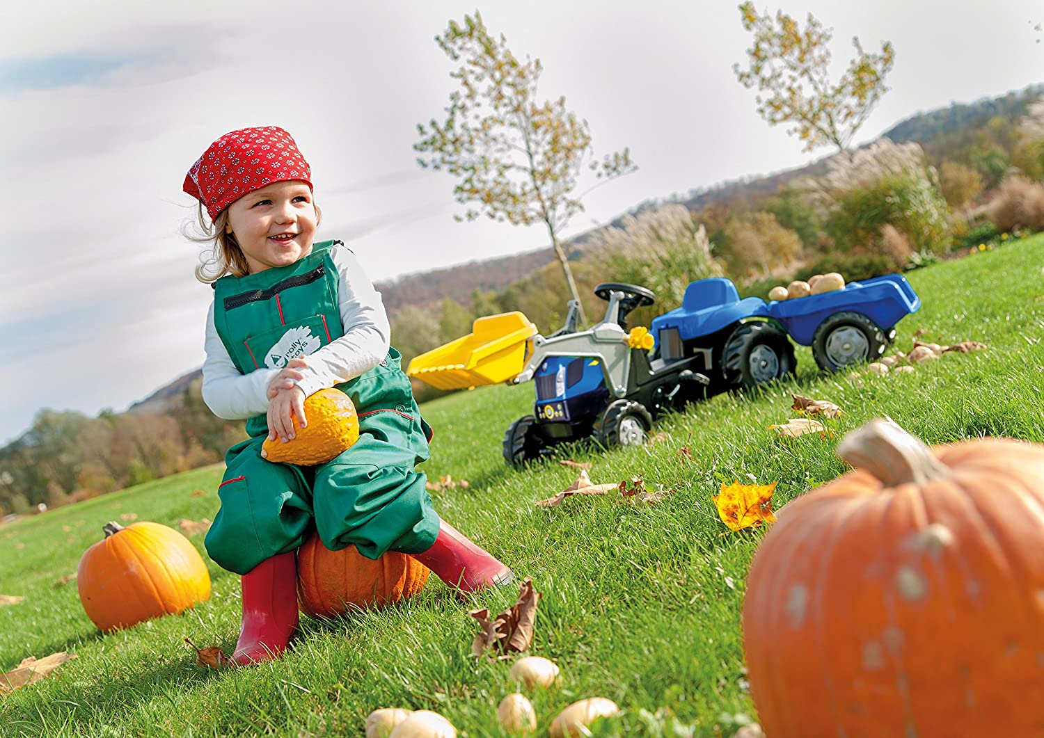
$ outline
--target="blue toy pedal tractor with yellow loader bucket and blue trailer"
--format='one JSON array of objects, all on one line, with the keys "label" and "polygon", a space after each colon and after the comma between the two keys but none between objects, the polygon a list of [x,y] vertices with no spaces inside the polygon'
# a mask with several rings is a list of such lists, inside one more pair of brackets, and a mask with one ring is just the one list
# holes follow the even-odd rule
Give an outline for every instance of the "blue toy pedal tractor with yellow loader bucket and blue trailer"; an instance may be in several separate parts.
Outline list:
[{"label": "blue toy pedal tractor with yellow loader bucket and blue trailer", "polygon": [[651,305],[652,292],[618,282],[594,292],[608,305],[587,330],[576,330],[572,302],[566,325],[547,337],[520,312],[482,317],[469,336],[414,358],[407,374],[445,389],[533,380],[532,414],[503,438],[504,459],[518,466],[582,438],[641,444],[666,410],[780,380],[797,363],[790,338],[811,346],[826,371],[876,360],[895,324],[920,307],[901,275],[769,303],[740,300],[730,280],[711,278],[691,283],[682,305],[654,318],[651,331],[628,332],[627,313]]}]

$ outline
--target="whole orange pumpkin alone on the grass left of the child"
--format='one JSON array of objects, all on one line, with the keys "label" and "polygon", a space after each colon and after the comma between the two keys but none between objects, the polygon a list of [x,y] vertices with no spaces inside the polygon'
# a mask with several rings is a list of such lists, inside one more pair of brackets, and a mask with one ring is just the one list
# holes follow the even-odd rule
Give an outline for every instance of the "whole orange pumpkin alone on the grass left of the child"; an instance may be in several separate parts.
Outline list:
[{"label": "whole orange pumpkin alone on the grass left of the child", "polygon": [[108,523],[79,560],[76,586],[87,616],[110,633],[181,613],[210,597],[210,574],[189,540],[159,523]]}]

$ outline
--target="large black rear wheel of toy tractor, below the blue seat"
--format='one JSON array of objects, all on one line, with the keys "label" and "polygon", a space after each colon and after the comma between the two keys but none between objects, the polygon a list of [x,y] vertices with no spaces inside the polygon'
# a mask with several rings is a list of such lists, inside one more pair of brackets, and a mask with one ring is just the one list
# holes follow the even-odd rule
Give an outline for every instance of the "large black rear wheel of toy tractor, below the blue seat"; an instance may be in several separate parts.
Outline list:
[{"label": "large black rear wheel of toy tractor, below the blue seat", "polygon": [[744,323],[726,341],[721,363],[730,388],[753,389],[793,374],[797,360],[793,344],[775,324]]}]

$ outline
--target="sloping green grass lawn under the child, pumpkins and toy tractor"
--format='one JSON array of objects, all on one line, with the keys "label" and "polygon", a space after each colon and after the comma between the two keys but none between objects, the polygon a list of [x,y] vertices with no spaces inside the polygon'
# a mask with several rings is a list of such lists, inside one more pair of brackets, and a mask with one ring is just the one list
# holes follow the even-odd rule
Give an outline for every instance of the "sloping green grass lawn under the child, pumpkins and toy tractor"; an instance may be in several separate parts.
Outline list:
[{"label": "sloping green grass lawn under the child, pumpkins and toy tractor", "polygon": [[[658,443],[567,450],[593,462],[595,482],[641,474],[649,487],[674,490],[660,505],[625,506],[609,495],[535,507],[575,473],[553,462],[504,466],[500,438],[529,410],[531,385],[460,392],[424,407],[435,428],[426,471],[470,482],[433,493],[436,509],[518,574],[532,576],[544,595],[531,651],[555,661],[562,682],[530,694],[542,732],[563,707],[595,695],[625,711],[603,721],[604,735],[662,735],[658,725],[674,719],[693,735],[730,735],[744,717],[756,718],[739,623],[761,532],[727,531],[711,496],[722,481],[778,481],[778,507],[845,471],[833,454],[836,437],[787,441],[767,430],[791,416],[791,390],[845,408],[835,422],[840,433],[887,414],[930,443],[982,434],[1044,442],[1044,236],[908,277],[924,305],[900,323],[900,348],[908,350],[922,329],[926,340],[979,340],[989,350],[946,355],[912,375],[860,386],[820,376],[800,349],[793,381],[753,398],[691,405],[658,423]],[[692,462],[679,454],[683,446]],[[436,710],[461,734],[502,735],[496,708],[516,685],[507,663],[470,656],[476,625],[468,610],[499,612],[517,590],[469,604],[433,581],[400,606],[332,622],[305,619],[295,651],[280,662],[214,672],[194,666],[182,642],[187,636],[229,650],[235,643],[238,577],[210,564],[208,602],[98,633],[75,582],[55,582],[75,572],[101,525],[121,515],[172,526],[181,518],[213,519],[220,471],[196,470],[0,526],[0,594],[25,596],[0,608],[0,671],[27,656],[78,654],[51,677],[0,697],[0,733],[360,735],[372,710],[406,707]],[[199,537],[193,543],[203,551]]]}]

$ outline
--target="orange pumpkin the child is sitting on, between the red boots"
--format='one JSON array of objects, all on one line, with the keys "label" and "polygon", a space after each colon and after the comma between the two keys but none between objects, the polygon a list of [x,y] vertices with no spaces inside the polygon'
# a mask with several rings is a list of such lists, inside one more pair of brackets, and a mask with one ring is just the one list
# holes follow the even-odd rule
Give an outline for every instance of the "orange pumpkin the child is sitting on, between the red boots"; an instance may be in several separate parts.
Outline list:
[{"label": "orange pumpkin the child is sitting on, between the red boots", "polygon": [[319,537],[298,549],[298,600],[309,615],[332,618],[352,608],[380,608],[411,597],[431,571],[412,556],[388,551],[374,561],[348,546],[331,551]]}]

